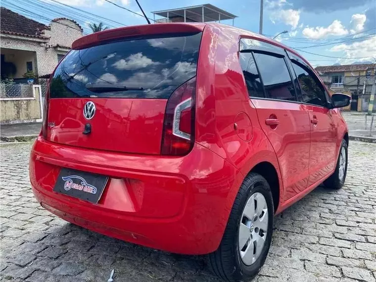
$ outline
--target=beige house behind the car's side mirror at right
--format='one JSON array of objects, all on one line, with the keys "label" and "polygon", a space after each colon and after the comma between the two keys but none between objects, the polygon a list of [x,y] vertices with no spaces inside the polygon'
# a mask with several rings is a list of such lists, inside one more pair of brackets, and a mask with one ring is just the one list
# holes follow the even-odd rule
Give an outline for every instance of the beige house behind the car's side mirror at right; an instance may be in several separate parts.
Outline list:
[{"label": "beige house behind the car's side mirror at right", "polygon": [[350,109],[355,111],[368,110],[372,84],[376,75],[375,69],[376,64],[333,65],[315,68],[329,90],[351,94]]}]

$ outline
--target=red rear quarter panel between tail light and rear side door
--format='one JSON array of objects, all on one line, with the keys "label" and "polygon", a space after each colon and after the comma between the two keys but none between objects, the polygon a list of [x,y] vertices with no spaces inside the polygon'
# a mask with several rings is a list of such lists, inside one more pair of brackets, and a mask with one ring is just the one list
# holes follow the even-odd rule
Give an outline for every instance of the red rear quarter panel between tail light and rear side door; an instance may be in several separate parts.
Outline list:
[{"label": "red rear quarter panel between tail light and rear side door", "polygon": [[[238,59],[237,29],[207,25],[197,69],[195,141],[232,163],[245,177],[260,162],[271,163],[282,178],[276,153],[258,122]],[[239,113],[249,118],[238,123]],[[243,128],[237,128],[235,127]],[[247,131],[249,141],[239,132]],[[248,136],[247,135],[247,136]]]}]

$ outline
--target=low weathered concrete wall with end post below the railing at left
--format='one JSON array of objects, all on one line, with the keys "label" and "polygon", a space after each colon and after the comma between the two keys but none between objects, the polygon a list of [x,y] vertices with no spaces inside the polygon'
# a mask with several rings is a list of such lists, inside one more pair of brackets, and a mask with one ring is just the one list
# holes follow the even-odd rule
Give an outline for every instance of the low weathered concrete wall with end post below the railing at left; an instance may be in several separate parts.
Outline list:
[{"label": "low weathered concrete wall with end post below the railing at left", "polygon": [[33,85],[32,98],[0,99],[1,124],[41,121],[43,109],[40,90],[39,85]]}]

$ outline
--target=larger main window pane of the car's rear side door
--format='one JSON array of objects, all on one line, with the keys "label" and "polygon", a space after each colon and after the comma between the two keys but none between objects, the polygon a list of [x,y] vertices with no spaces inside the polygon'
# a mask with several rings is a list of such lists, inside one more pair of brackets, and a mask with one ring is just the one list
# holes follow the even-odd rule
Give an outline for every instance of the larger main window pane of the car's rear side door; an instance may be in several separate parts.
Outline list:
[{"label": "larger main window pane of the car's rear side door", "polygon": [[254,53],[267,98],[296,101],[295,88],[283,56]]}]

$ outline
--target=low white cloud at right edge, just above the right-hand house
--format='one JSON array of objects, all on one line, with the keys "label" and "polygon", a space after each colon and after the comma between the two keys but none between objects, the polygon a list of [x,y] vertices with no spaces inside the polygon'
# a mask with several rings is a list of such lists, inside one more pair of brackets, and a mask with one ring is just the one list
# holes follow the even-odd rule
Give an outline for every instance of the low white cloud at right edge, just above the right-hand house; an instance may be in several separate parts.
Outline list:
[{"label": "low white cloud at right edge, just above the right-hand house", "polygon": [[341,57],[363,58],[363,59],[343,59],[341,63],[350,63],[353,61],[373,61],[376,59],[376,37],[358,41],[351,44],[339,44],[330,48],[332,52],[344,52]]}]

